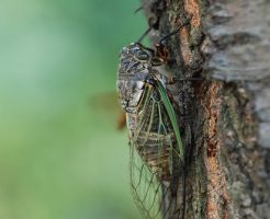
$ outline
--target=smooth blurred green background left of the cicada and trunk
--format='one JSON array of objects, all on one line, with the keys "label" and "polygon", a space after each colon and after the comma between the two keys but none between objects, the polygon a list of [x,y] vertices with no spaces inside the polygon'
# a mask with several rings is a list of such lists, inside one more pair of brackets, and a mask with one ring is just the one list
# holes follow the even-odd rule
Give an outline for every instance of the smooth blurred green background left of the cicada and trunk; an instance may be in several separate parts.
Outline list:
[{"label": "smooth blurred green background left of the cicada and trunk", "polygon": [[0,218],[140,218],[116,129],[138,0],[0,1]]}]

